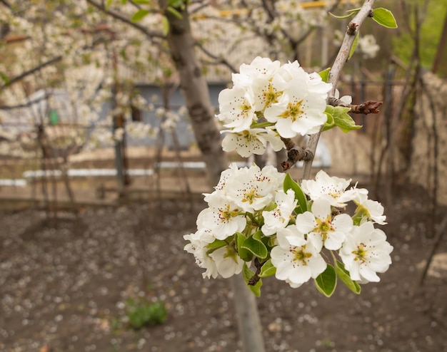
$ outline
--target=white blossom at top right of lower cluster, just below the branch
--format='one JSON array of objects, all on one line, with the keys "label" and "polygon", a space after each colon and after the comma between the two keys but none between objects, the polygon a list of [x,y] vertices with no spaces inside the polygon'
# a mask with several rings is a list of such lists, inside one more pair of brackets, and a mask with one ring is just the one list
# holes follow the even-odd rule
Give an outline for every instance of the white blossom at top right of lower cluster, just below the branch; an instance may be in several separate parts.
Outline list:
[{"label": "white blossom at top right of lower cluster, just below the branch", "polygon": [[346,192],[351,184],[351,179],[345,180],[336,176],[329,176],[323,170],[317,172],[315,180],[301,181],[301,189],[311,200],[326,199],[333,207],[345,207],[353,195]]}]

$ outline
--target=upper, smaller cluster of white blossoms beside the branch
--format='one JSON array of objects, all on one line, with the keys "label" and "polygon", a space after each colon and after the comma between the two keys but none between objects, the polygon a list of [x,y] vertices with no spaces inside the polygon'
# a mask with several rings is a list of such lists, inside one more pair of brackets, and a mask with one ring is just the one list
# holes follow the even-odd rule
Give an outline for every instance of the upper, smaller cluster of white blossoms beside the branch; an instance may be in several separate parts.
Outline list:
[{"label": "upper, smaller cluster of white blossoms beside the branch", "polygon": [[233,87],[219,94],[219,115],[228,133],[225,151],[261,155],[266,145],[284,147],[282,138],[317,133],[326,123],[326,98],[332,85],[306,73],[298,61],[281,65],[256,57],[233,73]]}]

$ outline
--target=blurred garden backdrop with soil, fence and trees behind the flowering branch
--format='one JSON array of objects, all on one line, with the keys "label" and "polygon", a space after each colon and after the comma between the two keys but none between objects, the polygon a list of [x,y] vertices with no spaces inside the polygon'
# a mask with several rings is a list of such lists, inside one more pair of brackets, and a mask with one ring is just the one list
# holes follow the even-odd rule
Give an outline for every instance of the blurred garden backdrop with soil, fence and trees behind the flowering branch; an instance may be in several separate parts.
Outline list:
[{"label": "blurred garden backdrop with soil, fence and trees behind the flowering branch", "polygon": [[[182,251],[211,186],[169,31],[191,29],[214,115],[256,56],[331,67],[350,21],[331,14],[362,2],[0,0],[0,350],[240,351],[231,289]],[[313,165],[383,203],[396,269],[341,289],[343,315],[272,281],[267,351],[447,351],[447,6],[375,7],[398,28],[368,19],[337,88],[381,111],[323,133]]]}]

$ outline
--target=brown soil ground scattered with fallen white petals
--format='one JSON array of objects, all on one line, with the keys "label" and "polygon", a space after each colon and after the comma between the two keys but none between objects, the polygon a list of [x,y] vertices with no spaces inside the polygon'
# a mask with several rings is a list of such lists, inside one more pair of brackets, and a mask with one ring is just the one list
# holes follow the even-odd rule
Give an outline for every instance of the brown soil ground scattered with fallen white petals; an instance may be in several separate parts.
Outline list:
[{"label": "brown soil ground scattered with fallen white petals", "polygon": [[[242,351],[230,282],[202,279],[183,250],[203,207],[166,200],[1,212],[0,351]],[[432,224],[446,213],[427,209],[421,190],[394,191],[383,227],[393,264],[360,295],[341,283],[326,298],[312,282],[291,289],[264,279],[266,351],[447,351],[447,236],[418,286]],[[161,300],[166,321],[132,328],[129,299]]]}]

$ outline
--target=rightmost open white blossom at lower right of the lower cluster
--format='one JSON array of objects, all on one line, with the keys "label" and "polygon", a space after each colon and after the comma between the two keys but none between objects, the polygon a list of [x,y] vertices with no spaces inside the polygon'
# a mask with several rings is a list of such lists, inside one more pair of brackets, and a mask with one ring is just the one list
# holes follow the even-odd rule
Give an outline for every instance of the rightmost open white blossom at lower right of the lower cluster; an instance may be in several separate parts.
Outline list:
[{"label": "rightmost open white blossom at lower right of the lower cluster", "polygon": [[364,222],[353,227],[339,254],[351,279],[366,284],[380,281],[376,273],[388,270],[392,251],[393,247],[386,242],[386,234],[375,229],[372,222]]}]

